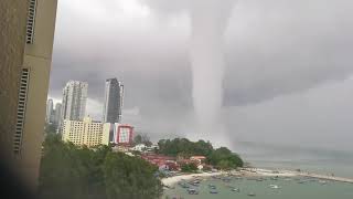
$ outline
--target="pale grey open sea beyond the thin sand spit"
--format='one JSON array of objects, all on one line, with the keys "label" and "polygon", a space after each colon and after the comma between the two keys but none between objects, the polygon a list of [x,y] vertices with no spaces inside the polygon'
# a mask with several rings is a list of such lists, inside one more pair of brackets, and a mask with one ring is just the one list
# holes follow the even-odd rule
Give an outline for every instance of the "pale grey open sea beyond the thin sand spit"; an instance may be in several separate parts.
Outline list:
[{"label": "pale grey open sea beyond the thin sand spit", "polygon": [[301,169],[321,175],[334,174],[353,178],[353,150],[319,147],[237,144],[234,147],[254,167],[268,169]]}]

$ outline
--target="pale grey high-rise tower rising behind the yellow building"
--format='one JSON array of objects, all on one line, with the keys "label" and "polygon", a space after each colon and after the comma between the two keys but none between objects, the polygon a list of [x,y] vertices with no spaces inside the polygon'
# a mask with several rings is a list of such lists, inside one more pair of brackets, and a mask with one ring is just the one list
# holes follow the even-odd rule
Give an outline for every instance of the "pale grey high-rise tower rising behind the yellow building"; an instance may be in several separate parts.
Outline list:
[{"label": "pale grey high-rise tower rising behind the yellow building", "polygon": [[82,121],[86,114],[88,83],[69,81],[63,88],[62,118]]}]

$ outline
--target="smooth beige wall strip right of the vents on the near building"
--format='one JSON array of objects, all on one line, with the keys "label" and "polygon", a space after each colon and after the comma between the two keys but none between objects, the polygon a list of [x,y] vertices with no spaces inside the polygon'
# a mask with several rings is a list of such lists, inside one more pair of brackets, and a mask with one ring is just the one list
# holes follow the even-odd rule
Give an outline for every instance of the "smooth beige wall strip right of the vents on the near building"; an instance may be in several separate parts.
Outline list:
[{"label": "smooth beige wall strip right of the vents on the near building", "polygon": [[57,0],[36,1],[34,41],[24,51],[23,67],[30,70],[30,81],[18,171],[32,190],[38,187],[56,4]]}]

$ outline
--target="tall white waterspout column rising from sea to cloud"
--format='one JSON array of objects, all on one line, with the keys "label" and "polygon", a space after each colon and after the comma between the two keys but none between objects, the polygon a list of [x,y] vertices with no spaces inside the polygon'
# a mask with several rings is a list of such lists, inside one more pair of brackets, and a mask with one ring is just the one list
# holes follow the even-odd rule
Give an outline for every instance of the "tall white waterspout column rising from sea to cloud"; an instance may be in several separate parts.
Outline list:
[{"label": "tall white waterspout column rising from sea to cloud", "polygon": [[227,137],[220,112],[225,70],[224,32],[234,3],[235,0],[195,0],[191,3],[190,56],[197,137],[202,134],[210,138],[213,133],[221,138]]}]

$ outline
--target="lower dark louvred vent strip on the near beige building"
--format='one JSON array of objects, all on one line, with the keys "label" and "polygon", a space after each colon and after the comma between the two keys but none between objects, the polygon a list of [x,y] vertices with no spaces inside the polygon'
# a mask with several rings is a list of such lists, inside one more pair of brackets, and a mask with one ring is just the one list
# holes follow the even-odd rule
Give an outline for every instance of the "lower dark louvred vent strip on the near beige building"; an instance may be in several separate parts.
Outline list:
[{"label": "lower dark louvred vent strip on the near beige building", "polygon": [[30,81],[30,70],[22,69],[20,91],[19,91],[19,96],[21,97],[19,97],[19,102],[18,102],[18,117],[17,117],[17,124],[15,124],[15,132],[13,136],[13,151],[15,154],[19,154],[21,151],[29,81]]}]

